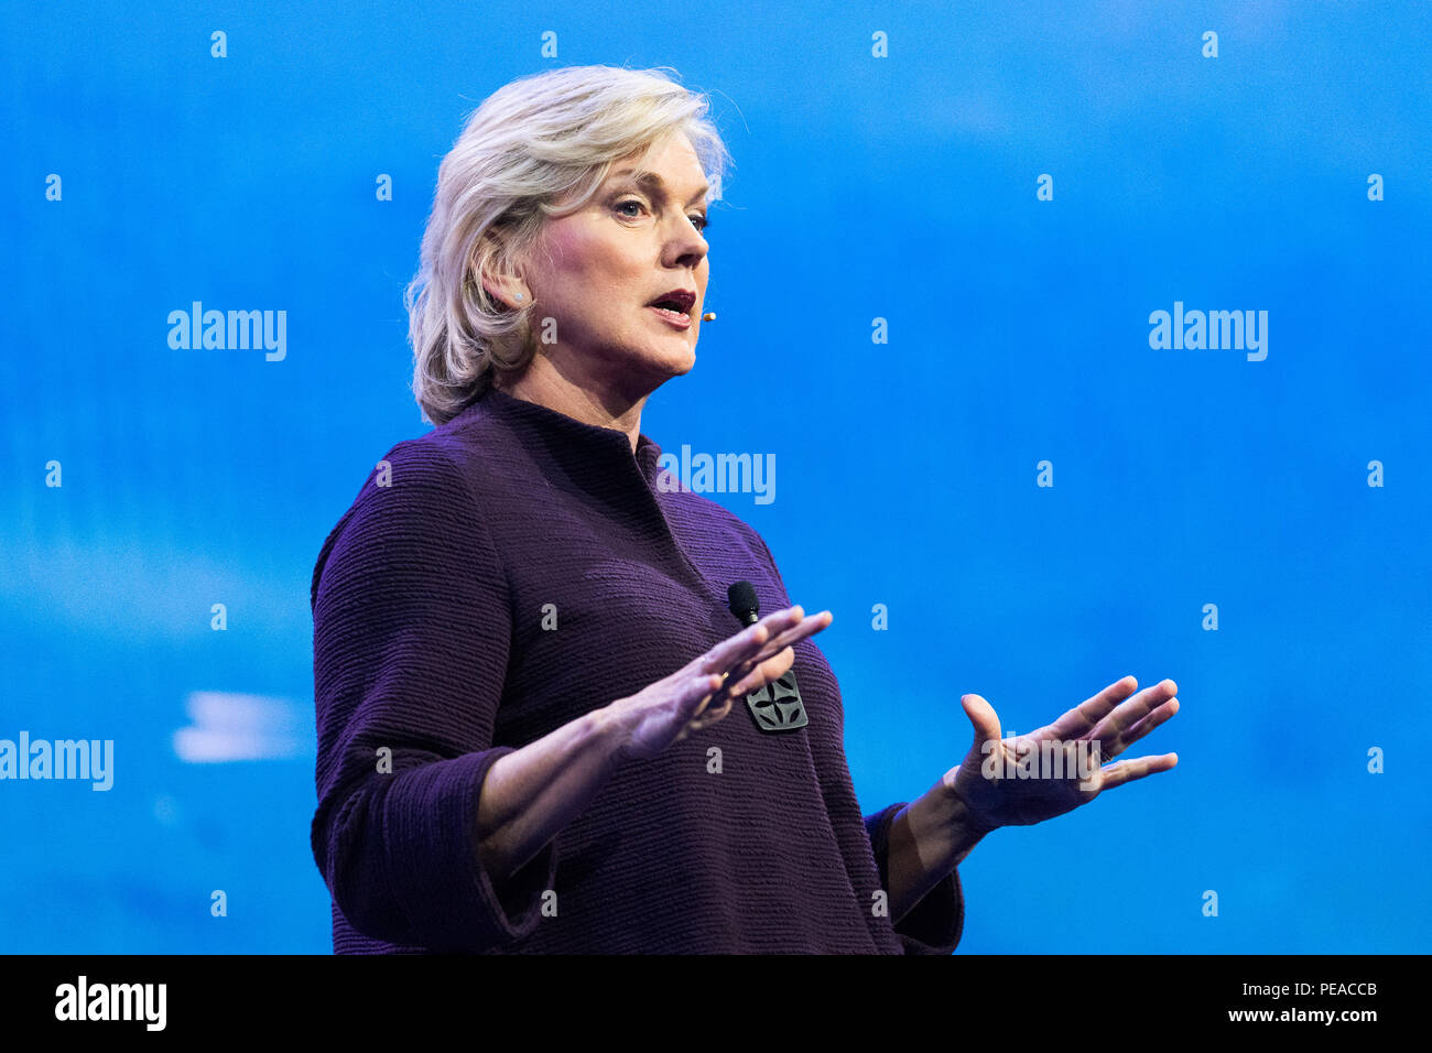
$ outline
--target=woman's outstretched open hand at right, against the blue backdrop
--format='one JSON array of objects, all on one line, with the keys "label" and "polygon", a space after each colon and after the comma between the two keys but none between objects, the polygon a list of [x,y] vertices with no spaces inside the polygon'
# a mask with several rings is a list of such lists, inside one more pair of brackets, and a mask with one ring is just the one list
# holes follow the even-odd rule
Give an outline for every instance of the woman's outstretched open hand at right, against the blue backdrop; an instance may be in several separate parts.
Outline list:
[{"label": "woman's outstretched open hand at right, against the blue backdrop", "polygon": [[[1088,804],[1104,789],[1169,771],[1179,764],[1177,754],[1108,764],[1179,712],[1173,681],[1133,695],[1137,686],[1126,676],[1054,723],[1008,739],[1001,738],[1000,718],[984,698],[962,696],[975,742],[964,764],[945,772],[945,789],[959,798],[977,828],[990,831],[1042,822]],[[1027,759],[1021,764],[1021,758]]]}]

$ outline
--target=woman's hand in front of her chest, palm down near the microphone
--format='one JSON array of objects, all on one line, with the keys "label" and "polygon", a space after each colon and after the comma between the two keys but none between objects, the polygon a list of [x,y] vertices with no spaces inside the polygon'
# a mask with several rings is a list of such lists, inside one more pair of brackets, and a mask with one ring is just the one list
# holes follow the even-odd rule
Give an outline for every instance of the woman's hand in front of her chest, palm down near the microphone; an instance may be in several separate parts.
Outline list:
[{"label": "woman's hand in front of her chest, palm down near the microphone", "polygon": [[766,615],[722,640],[670,676],[604,709],[616,736],[616,756],[656,756],[693,731],[709,728],[737,698],[780,679],[796,660],[792,643],[831,625],[829,610],[805,617],[799,607]]}]

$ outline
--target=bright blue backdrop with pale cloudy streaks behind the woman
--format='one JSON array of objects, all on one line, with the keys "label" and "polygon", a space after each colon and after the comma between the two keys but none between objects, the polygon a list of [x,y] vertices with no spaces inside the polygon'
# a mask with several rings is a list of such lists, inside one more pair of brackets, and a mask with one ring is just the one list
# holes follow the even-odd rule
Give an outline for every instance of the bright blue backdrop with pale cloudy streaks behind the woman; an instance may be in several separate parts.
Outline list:
[{"label": "bright blue backdrop with pale cloudy streaks behind the woman", "polygon": [[[643,431],[775,454],[773,504],[715,499],[835,612],[865,811],[958,764],[964,692],[1027,732],[1179,683],[1136,746],[1173,772],[962,865],[961,951],[1432,950],[1432,10],[821,11],[3,9],[0,738],[113,739],[116,772],[0,782],[0,950],[329,950],[314,559],[425,430],[401,291],[438,160],[503,83],[589,63],[713,95],[719,321]],[[172,351],[195,299],[286,309],[286,358]],[[1151,350],[1174,301],[1266,309],[1266,361]],[[271,755],[185,761],[193,692],[275,699]]]}]

